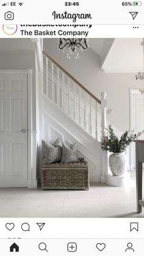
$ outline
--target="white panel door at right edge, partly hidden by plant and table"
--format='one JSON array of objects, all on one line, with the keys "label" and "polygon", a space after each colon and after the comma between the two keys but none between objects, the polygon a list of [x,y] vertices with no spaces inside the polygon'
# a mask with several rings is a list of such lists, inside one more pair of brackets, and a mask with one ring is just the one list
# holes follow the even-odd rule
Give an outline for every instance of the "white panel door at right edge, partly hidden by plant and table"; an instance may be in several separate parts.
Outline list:
[{"label": "white panel door at right edge, partly hidden by plant and table", "polygon": [[[132,128],[135,133],[144,130],[144,95],[135,93],[132,98]],[[144,139],[142,135],[140,139]],[[135,168],[135,143],[133,143],[133,158]]]}]

